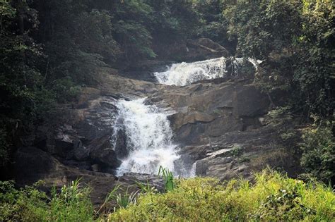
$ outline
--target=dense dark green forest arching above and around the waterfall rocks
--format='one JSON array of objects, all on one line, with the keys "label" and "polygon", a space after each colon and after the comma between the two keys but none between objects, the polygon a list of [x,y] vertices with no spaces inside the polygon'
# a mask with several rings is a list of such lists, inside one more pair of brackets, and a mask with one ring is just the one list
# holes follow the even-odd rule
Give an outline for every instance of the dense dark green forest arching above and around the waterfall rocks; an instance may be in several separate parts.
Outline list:
[{"label": "dense dark green forest arching above and around the waterfall rocks", "polygon": [[102,68],[180,61],[178,43],[206,37],[263,61],[252,81],[281,95],[272,113],[308,126],[292,144],[305,177],[334,185],[334,1],[0,0],[0,16],[1,171],[21,138],[98,85]]}]

